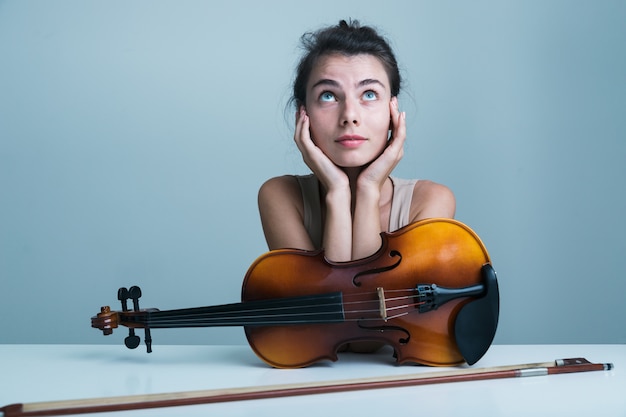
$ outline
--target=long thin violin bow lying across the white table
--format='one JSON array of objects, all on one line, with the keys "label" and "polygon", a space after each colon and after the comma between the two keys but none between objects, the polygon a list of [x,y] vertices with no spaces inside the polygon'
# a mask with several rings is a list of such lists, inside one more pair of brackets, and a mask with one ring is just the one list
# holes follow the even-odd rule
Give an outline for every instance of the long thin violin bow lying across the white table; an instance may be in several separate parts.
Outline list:
[{"label": "long thin violin bow lying across the white table", "polygon": [[574,372],[609,371],[611,369],[613,369],[612,363],[591,363],[584,358],[557,359],[554,362],[457,369],[326,382],[11,404],[0,408],[0,411],[4,413],[4,417],[58,416],[325,394],[366,389],[397,388],[449,382],[556,375]]}]

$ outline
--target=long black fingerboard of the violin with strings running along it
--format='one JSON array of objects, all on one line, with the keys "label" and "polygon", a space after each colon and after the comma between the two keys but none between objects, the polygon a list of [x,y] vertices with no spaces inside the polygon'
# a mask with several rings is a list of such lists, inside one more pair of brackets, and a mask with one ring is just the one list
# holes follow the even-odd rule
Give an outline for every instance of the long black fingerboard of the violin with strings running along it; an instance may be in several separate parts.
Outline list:
[{"label": "long black fingerboard of the violin with strings running along it", "polygon": [[148,310],[132,317],[137,327],[182,328],[341,323],[341,292],[273,300],[247,301],[178,310]]}]

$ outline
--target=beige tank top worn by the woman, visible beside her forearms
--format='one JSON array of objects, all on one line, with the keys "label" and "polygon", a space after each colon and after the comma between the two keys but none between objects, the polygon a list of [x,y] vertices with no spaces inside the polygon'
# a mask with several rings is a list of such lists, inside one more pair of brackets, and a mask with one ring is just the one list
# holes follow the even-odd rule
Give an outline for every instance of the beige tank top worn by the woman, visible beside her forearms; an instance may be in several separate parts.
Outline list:
[{"label": "beige tank top worn by the woman, visible beside her forearms", "polygon": [[[320,185],[313,174],[296,175],[302,191],[304,203],[304,227],[316,248],[322,247],[322,208],[320,202]],[[393,183],[389,230],[398,230],[409,224],[413,188],[418,180],[407,180],[390,177]]]}]

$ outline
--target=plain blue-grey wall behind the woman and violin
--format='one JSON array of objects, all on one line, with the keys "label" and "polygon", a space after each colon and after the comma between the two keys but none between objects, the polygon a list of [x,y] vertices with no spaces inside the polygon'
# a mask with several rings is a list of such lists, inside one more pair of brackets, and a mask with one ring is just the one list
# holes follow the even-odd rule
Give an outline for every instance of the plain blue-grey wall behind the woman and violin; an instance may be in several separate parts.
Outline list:
[{"label": "plain blue-grey wall behind the woman and violin", "polygon": [[[401,177],[453,189],[501,292],[496,343],[626,343],[626,2],[0,1],[0,342],[121,343],[143,307],[238,301],[256,194],[306,167],[298,40],[353,17],[396,50]],[[234,329],[155,344],[245,343]]]}]

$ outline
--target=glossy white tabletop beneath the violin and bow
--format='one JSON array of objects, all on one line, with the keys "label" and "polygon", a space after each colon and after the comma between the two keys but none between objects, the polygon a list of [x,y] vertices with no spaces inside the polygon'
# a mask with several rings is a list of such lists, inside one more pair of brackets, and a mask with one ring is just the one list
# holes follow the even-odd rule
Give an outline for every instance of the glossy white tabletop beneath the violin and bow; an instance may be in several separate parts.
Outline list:
[{"label": "glossy white tabletop beneath the violin and bow", "polygon": [[[0,407],[214,388],[433,372],[395,365],[390,351],[272,369],[248,346],[0,345]],[[362,390],[91,414],[111,416],[626,416],[626,345],[494,345],[474,367],[561,358],[611,362],[610,371]],[[84,415],[84,414],[83,414]]]}]

